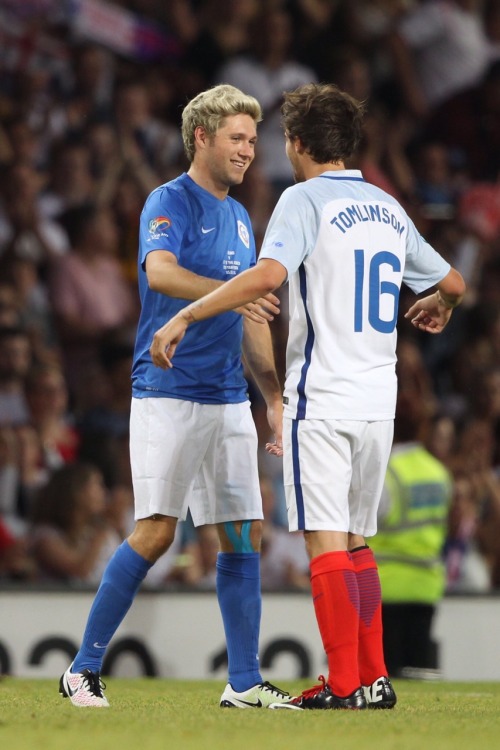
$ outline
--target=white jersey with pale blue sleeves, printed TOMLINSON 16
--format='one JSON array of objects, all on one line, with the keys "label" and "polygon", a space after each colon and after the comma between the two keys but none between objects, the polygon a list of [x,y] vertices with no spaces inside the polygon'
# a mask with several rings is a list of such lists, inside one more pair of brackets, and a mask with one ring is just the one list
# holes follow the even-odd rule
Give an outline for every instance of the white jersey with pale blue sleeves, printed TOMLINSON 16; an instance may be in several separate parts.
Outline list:
[{"label": "white jersey with pale blue sleeves, printed TOMLINSON 16", "polygon": [[288,271],[285,414],[393,419],[401,283],[418,294],[441,281],[449,263],[357,170],[285,190],[259,258]]}]

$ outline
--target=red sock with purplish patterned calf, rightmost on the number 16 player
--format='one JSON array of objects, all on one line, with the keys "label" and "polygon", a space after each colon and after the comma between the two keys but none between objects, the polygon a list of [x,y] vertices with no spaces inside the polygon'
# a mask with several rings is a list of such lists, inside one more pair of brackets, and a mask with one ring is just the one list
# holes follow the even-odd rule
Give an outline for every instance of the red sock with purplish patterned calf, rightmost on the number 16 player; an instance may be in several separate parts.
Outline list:
[{"label": "red sock with purplish patterned calf, rightmost on the number 16 player", "polygon": [[382,596],[377,563],[372,550],[363,547],[352,553],[359,590],[359,676],[371,685],[387,676],[382,641]]}]

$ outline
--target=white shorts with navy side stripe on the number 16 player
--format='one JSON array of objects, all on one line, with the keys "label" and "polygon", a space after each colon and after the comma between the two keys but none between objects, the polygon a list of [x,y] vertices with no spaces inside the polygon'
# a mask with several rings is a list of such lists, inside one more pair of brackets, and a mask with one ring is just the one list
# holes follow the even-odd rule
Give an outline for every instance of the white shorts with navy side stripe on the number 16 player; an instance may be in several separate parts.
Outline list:
[{"label": "white shorts with navy side stripe on the number 16 player", "polygon": [[290,531],[377,532],[392,420],[283,420]]}]

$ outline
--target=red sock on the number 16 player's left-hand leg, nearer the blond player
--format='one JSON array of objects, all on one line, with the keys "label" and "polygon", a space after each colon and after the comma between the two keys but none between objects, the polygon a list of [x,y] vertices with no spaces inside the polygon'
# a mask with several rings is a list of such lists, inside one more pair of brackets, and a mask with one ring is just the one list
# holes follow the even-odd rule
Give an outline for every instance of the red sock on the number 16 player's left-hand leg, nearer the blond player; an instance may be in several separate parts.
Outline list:
[{"label": "red sock on the number 16 player's left-hand leg, nearer the blond player", "polygon": [[345,697],[360,686],[359,594],[348,552],[325,552],[311,561],[316,620],[328,658],[328,684]]}]

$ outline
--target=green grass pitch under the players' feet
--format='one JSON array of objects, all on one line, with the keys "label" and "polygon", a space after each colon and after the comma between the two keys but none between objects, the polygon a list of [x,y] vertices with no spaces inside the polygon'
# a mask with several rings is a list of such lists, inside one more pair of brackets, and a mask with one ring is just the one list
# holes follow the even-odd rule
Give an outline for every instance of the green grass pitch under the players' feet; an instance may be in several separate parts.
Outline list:
[{"label": "green grass pitch under the players' feet", "polygon": [[[489,750],[500,683],[395,681],[392,711],[220,709],[217,681],[108,678],[109,709],[77,709],[57,680],[0,680],[7,750]],[[293,693],[312,683],[287,682]]]}]

